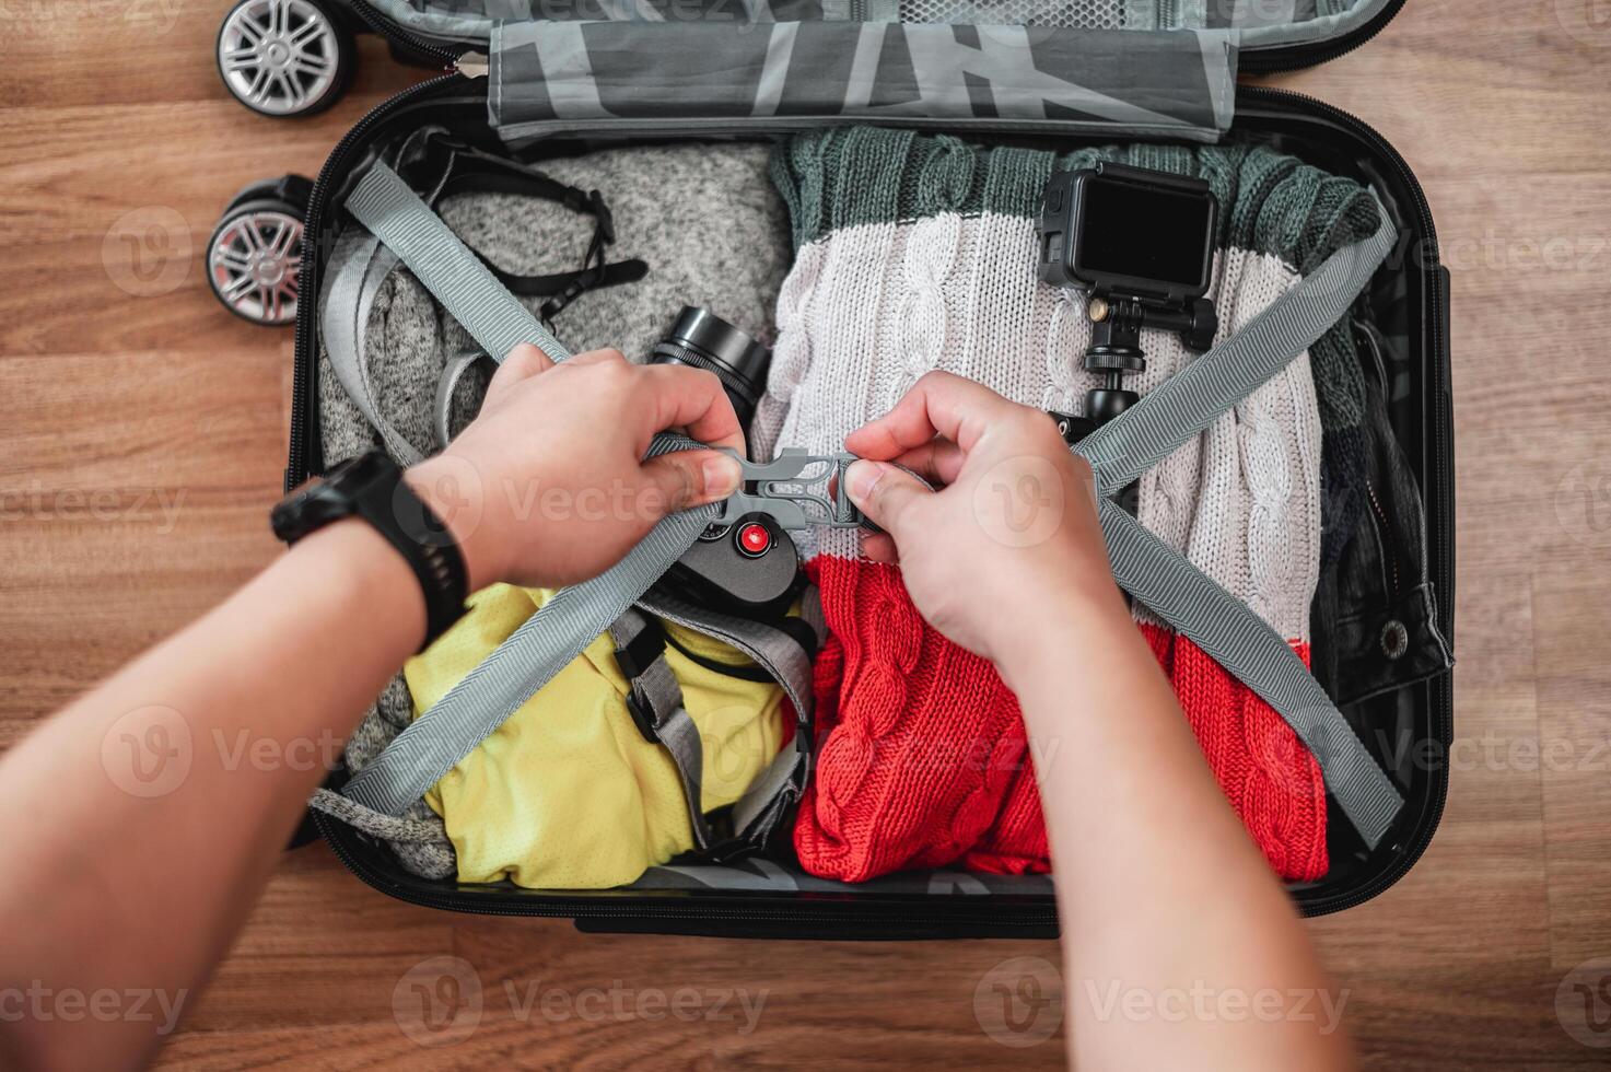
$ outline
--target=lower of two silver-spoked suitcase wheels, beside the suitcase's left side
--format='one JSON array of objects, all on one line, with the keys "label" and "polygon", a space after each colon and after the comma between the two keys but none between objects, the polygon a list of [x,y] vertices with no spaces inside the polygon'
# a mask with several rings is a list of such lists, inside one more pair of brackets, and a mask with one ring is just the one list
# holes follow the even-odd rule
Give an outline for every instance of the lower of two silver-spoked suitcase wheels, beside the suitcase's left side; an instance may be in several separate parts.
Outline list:
[{"label": "lower of two silver-spoked suitcase wheels, beside the suitcase's left side", "polygon": [[296,319],[311,189],[301,176],[255,182],[224,210],[208,240],[206,279],[213,295],[235,316],[266,326]]}]

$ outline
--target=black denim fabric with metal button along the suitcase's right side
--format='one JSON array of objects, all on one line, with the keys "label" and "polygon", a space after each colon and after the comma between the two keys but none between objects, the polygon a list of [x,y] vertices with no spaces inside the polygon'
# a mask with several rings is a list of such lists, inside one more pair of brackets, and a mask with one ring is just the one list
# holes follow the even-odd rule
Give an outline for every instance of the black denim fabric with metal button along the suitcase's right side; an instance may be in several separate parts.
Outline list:
[{"label": "black denim fabric with metal button along the suitcase's right side", "polygon": [[1437,603],[1426,571],[1421,490],[1387,416],[1387,342],[1356,324],[1365,363],[1363,482],[1327,488],[1331,517],[1352,532],[1326,556],[1310,611],[1315,677],[1339,706],[1413,685],[1455,664],[1437,629]]}]

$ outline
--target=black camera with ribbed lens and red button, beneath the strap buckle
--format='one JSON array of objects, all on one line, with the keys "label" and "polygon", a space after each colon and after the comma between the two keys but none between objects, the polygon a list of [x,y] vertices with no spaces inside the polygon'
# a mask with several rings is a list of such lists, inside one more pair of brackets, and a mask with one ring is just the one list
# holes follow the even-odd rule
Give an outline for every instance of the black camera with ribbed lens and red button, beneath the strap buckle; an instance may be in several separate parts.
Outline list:
[{"label": "black camera with ribbed lens and red button, beneath the strap buckle", "polygon": [[[715,372],[749,435],[767,385],[770,348],[709,310],[685,305],[649,361]],[[794,540],[767,514],[748,514],[706,529],[665,574],[665,584],[707,606],[746,617],[777,617],[799,593],[799,566]]]}]

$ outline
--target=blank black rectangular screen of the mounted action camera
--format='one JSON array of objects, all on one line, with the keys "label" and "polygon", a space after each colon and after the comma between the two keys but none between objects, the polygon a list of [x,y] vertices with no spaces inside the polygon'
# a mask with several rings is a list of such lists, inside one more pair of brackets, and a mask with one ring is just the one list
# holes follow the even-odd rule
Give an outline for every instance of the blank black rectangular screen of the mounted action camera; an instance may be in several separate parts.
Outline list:
[{"label": "blank black rectangular screen of the mounted action camera", "polygon": [[1081,274],[1133,276],[1181,287],[1205,282],[1208,197],[1097,176],[1086,179],[1083,190],[1075,263]]}]

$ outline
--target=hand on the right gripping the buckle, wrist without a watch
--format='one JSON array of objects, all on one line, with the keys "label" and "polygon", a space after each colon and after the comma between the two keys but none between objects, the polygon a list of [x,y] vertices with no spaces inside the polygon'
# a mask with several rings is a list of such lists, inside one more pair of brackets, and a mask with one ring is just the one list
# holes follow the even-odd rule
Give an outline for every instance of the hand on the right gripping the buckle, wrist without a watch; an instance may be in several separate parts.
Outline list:
[{"label": "hand on the right gripping the buckle, wrist without a watch", "polygon": [[863,459],[846,471],[846,492],[884,530],[863,551],[899,558],[917,609],[963,648],[1000,663],[1050,611],[1123,614],[1091,466],[1047,414],[930,372],[844,447]]}]

